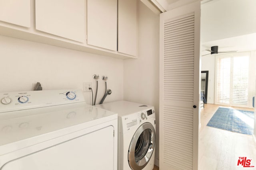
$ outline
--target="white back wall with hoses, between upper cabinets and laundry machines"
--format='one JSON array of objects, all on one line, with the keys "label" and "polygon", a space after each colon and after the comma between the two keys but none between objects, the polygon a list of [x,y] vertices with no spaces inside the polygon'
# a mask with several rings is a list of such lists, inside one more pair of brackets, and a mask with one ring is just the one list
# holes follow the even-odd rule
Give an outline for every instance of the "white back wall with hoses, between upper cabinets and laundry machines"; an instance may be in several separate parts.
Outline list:
[{"label": "white back wall with hoses, between upper cabinets and laundry machines", "polygon": [[[40,82],[43,90],[83,89],[83,82],[96,81],[93,74],[108,76],[112,94],[105,102],[123,99],[123,60],[64,49],[0,35],[0,92],[32,90]],[[99,80],[97,102],[104,93],[104,81]],[[91,93],[84,93],[91,104]]]}]

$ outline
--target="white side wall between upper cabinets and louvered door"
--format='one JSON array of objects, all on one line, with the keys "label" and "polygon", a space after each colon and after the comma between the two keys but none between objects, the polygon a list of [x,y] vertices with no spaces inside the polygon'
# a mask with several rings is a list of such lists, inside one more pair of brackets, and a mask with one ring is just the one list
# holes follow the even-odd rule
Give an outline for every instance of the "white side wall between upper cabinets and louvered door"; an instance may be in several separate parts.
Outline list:
[{"label": "white side wall between upper cabinets and louvered door", "polygon": [[124,61],[124,100],[156,110],[156,162],[159,160],[159,15],[138,1],[138,59]]}]

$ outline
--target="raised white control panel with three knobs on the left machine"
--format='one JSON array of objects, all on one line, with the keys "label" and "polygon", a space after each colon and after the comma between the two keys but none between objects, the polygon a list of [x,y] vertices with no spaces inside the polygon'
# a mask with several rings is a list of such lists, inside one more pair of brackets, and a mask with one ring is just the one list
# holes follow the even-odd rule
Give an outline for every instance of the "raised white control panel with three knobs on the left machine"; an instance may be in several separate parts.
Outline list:
[{"label": "raised white control panel with three knobs on the left machine", "polygon": [[85,102],[81,90],[39,90],[0,93],[0,113]]}]

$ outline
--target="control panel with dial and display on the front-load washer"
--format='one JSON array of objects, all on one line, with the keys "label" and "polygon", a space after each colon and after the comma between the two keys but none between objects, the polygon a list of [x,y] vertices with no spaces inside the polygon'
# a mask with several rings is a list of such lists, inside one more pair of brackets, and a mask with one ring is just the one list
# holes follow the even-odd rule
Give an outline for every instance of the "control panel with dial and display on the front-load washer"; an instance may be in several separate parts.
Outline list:
[{"label": "control panel with dial and display on the front-load washer", "polygon": [[126,115],[121,117],[122,121],[120,123],[120,128],[122,128],[122,132],[128,132],[131,129],[138,128],[141,124],[145,122],[149,122],[152,125],[156,125],[156,116],[154,107],[150,109],[146,109],[143,111],[139,111],[134,114]]}]

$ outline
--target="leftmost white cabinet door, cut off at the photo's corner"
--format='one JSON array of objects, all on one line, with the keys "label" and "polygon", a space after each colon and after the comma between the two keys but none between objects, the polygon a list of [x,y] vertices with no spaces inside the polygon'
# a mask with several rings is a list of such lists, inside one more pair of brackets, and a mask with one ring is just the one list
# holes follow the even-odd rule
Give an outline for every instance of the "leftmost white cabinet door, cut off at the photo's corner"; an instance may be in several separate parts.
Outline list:
[{"label": "leftmost white cabinet door, cut off at the photo's corner", "polygon": [[30,0],[0,0],[0,21],[30,27]]}]

